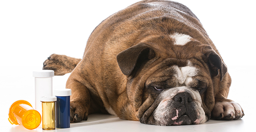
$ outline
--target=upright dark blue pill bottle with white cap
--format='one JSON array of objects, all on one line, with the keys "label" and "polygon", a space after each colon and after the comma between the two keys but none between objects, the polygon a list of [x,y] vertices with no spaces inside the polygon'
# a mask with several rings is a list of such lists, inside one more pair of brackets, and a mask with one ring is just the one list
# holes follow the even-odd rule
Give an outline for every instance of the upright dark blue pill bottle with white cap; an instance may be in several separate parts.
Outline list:
[{"label": "upright dark blue pill bottle with white cap", "polygon": [[70,96],[71,89],[54,90],[56,101],[56,128],[70,127]]}]

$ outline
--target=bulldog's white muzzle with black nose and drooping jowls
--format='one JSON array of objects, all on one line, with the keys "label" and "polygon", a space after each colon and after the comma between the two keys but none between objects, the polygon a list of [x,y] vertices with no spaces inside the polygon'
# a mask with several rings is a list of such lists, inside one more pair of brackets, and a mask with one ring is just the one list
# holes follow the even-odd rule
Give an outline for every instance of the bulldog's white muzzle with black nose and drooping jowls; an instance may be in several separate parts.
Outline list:
[{"label": "bulldog's white muzzle with black nose and drooping jowls", "polygon": [[160,103],[153,112],[156,124],[161,126],[200,124],[208,119],[198,91],[186,86],[163,91]]}]

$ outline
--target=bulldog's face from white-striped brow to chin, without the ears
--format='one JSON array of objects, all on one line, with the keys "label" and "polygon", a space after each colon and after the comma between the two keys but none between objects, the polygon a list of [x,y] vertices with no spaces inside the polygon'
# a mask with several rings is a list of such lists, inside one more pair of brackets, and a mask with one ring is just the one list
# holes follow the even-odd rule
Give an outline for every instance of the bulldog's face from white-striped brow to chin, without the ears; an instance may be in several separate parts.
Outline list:
[{"label": "bulldog's face from white-striped brow to chin, without the ears", "polygon": [[[168,61],[171,61],[170,65],[164,62],[165,66],[155,71],[145,82],[145,91],[155,102],[144,113],[141,121],[161,126],[208,121],[209,115],[205,112],[208,109],[202,96],[211,77],[200,63],[176,59]],[[154,111],[150,110],[151,107]]]}]

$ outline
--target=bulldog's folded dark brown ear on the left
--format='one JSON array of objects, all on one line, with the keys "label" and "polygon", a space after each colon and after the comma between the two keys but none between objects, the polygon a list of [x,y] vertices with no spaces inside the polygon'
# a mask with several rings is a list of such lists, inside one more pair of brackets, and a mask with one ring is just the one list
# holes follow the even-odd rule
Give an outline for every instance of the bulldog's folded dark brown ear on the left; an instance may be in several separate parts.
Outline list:
[{"label": "bulldog's folded dark brown ear on the left", "polygon": [[130,75],[135,67],[155,57],[155,51],[148,45],[141,43],[132,46],[117,55],[118,65],[124,75]]}]

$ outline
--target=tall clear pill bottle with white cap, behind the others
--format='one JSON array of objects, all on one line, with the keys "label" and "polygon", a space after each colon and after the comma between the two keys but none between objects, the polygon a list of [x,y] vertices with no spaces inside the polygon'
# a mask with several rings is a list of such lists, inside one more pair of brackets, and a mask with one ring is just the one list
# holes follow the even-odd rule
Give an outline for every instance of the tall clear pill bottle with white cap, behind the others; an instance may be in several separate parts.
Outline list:
[{"label": "tall clear pill bottle with white cap, behind the others", "polygon": [[53,70],[33,71],[35,77],[35,109],[42,115],[42,96],[53,96]]}]

